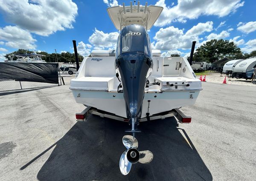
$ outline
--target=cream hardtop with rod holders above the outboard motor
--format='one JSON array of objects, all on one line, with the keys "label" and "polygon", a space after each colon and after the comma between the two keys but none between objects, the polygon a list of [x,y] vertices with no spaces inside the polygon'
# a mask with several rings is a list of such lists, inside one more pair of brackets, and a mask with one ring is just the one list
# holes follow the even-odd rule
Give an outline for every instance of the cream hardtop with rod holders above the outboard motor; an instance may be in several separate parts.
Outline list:
[{"label": "cream hardtop with rod holders above the outboard motor", "polygon": [[160,16],[163,7],[147,6],[147,3],[145,6],[140,6],[140,1],[138,1],[137,6],[133,6],[132,2],[130,6],[125,6],[125,3],[123,3],[123,6],[110,7],[107,11],[118,30],[131,24],[141,25],[148,30],[151,29]]}]

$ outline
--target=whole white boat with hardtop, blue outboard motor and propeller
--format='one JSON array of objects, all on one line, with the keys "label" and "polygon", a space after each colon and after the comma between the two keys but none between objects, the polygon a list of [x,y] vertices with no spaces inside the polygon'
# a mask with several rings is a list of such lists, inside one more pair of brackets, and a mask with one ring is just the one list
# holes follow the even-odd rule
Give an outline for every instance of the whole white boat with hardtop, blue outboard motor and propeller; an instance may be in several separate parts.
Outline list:
[{"label": "whole white boat with hardtop, blue outboard motor and propeller", "polygon": [[102,117],[131,124],[127,132],[133,136],[122,139],[127,148],[119,162],[123,175],[129,173],[131,164],[153,159],[151,152],[137,150],[137,125],[173,116],[171,110],[193,105],[202,89],[185,57],[161,57],[159,50],[151,50],[147,30],[162,10],[147,3],[140,6],[139,2],[137,6],[123,3],[108,8],[114,26],[120,30],[117,49],[93,50],[70,84],[76,102],[87,106],[77,114],[78,120],[84,120],[86,112],[93,108],[92,112]]}]

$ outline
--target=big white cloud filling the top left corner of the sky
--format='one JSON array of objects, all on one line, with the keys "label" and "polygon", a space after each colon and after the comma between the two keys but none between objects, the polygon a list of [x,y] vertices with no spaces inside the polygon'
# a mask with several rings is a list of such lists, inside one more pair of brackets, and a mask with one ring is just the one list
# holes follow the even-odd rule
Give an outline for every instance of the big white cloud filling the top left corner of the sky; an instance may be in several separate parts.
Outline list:
[{"label": "big white cloud filling the top left corner of the sky", "polygon": [[77,10],[72,0],[0,0],[8,22],[42,36],[73,28]]}]

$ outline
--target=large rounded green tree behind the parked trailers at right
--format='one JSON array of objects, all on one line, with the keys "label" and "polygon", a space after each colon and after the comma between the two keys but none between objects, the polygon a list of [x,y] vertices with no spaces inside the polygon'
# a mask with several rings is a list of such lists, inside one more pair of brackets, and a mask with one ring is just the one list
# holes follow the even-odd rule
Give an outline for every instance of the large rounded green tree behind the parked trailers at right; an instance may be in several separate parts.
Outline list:
[{"label": "large rounded green tree behind the parked trailers at right", "polygon": [[231,60],[243,57],[241,49],[229,40],[210,40],[196,49],[193,60],[197,62],[215,62],[222,58]]}]

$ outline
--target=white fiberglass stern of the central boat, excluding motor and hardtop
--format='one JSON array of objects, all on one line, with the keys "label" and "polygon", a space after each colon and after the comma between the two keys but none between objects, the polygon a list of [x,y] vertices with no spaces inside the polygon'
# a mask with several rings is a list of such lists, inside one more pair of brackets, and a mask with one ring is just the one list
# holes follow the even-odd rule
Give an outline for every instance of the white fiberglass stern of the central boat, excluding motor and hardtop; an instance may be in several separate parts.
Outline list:
[{"label": "white fiberglass stern of the central boat, excluding motor and hardtop", "polygon": [[[201,81],[195,78],[185,58],[153,57],[153,63],[153,71],[148,80],[149,83],[158,82],[160,85],[145,88],[142,118],[148,110],[150,115],[153,115],[195,103],[201,90]],[[115,57],[86,57],[76,78],[71,80],[70,89],[77,103],[126,118],[123,93],[117,92],[119,84],[116,78]],[[170,86],[171,84],[173,85]]]}]

